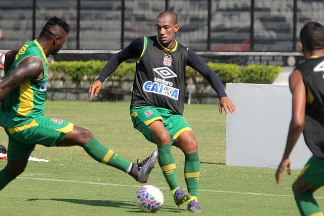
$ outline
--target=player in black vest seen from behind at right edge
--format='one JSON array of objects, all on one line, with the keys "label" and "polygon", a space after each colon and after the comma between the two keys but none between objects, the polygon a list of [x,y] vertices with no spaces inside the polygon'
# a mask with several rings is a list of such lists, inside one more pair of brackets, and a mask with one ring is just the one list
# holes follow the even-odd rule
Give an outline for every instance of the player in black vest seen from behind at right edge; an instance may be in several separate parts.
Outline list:
[{"label": "player in black vest seen from behind at right edge", "polygon": [[313,153],[293,184],[295,200],[301,215],[323,215],[313,193],[324,185],[324,27],[318,22],[306,23],[300,31],[300,47],[306,60],[289,77],[293,95],[293,114],[286,149],[276,170],[280,183],[298,137],[303,132],[306,145]]}]

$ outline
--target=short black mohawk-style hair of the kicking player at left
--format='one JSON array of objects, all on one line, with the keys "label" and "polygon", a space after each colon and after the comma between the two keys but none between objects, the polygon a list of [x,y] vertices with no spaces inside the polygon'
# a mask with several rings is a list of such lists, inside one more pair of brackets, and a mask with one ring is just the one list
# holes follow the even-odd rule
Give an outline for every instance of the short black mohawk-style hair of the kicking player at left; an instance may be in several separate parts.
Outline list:
[{"label": "short black mohawk-style hair of the kicking player at left", "polygon": [[43,30],[39,34],[39,38],[50,39],[55,34],[53,31],[55,28],[61,28],[66,33],[69,33],[70,31],[70,26],[65,20],[58,17],[52,17],[45,24]]}]

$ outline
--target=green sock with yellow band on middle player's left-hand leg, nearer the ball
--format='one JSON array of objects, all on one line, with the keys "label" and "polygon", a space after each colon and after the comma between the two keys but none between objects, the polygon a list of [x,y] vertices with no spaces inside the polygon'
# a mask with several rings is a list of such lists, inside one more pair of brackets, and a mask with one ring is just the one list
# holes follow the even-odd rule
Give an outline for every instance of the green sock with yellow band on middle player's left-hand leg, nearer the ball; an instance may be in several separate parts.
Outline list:
[{"label": "green sock with yellow band on middle player's left-hand leg, nearer the ball", "polygon": [[171,153],[171,147],[172,145],[157,145],[157,161],[167,180],[170,190],[174,190],[179,187],[179,185],[177,181],[177,167]]}]

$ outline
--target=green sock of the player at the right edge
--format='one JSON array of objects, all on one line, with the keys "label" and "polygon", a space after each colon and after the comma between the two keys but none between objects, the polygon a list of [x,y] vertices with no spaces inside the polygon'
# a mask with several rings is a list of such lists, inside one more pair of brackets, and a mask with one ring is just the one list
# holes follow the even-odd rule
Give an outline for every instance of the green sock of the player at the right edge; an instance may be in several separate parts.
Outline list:
[{"label": "green sock of the player at the right edge", "polygon": [[[299,193],[295,195],[295,200],[302,216],[304,215],[323,215],[312,192]],[[317,213],[317,214],[315,214]]]}]

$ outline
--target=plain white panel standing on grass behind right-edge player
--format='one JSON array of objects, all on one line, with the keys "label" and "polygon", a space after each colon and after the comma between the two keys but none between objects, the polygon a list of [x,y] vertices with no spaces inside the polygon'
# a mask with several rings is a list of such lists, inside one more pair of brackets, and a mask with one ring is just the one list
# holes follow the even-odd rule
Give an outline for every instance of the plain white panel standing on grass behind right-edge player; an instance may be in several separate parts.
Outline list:
[{"label": "plain white panel standing on grass behind right-edge player", "polygon": [[[226,85],[237,108],[226,120],[226,164],[277,167],[286,146],[292,115],[288,85]],[[301,169],[311,152],[300,136],[291,154],[293,169]]]}]

